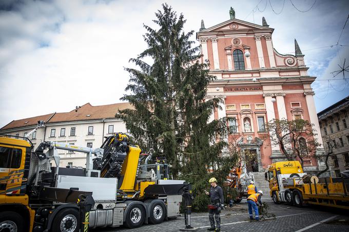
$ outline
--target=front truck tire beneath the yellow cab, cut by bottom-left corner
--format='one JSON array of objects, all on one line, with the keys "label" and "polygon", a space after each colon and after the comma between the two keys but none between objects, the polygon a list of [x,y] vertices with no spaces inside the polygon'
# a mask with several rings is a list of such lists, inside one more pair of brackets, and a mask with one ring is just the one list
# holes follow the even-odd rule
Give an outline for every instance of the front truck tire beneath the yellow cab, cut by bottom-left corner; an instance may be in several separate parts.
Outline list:
[{"label": "front truck tire beneath the yellow cab, cut by bottom-left corner", "polygon": [[0,231],[21,232],[25,224],[20,214],[11,211],[0,213]]}]

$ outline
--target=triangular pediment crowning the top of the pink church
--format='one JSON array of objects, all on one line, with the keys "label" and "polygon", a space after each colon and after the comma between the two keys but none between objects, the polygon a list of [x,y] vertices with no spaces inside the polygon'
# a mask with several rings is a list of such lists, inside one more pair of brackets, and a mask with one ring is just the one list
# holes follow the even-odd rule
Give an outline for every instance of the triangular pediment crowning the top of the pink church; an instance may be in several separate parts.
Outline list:
[{"label": "triangular pediment crowning the top of the pink church", "polygon": [[219,32],[219,31],[239,31],[239,30],[243,30],[243,31],[270,30],[270,31],[273,31],[274,29],[233,18],[233,19],[229,19],[223,23],[217,24],[213,27],[203,29],[200,31],[200,33],[202,33],[202,32]]}]

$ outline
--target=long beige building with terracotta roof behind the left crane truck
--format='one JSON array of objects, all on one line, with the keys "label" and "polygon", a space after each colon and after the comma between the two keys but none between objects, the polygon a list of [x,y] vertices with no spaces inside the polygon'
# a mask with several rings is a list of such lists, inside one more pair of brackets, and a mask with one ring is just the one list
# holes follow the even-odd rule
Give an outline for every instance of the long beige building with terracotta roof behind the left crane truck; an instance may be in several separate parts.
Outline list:
[{"label": "long beige building with terracotta roof behind the left crane truck", "polygon": [[[37,121],[45,122],[29,136],[35,149],[43,141],[63,142],[79,146],[100,147],[104,136],[112,133],[126,133],[125,123],[115,119],[118,110],[130,108],[129,103],[115,103],[105,106],[91,106],[90,103],[66,112],[51,113],[31,118],[13,120],[0,129],[0,134],[26,137],[36,128]],[[85,167],[83,153],[59,150],[60,166]]]}]

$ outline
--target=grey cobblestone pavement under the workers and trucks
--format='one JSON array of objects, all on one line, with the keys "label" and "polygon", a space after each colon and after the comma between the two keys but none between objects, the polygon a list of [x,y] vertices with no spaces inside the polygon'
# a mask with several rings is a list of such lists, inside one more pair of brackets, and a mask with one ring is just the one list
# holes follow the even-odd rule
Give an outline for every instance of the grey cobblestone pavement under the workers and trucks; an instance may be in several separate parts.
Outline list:
[{"label": "grey cobblestone pavement under the workers and trucks", "polygon": [[[265,200],[265,199],[264,199]],[[267,199],[268,200],[268,199]],[[227,208],[221,213],[221,231],[349,231],[349,215],[344,209],[328,209],[318,207],[298,208],[288,205],[276,205],[267,201],[269,213],[276,218],[267,218],[265,221],[249,221],[247,204],[241,202]],[[200,227],[198,231],[207,231],[209,227],[207,213],[193,213],[191,225]],[[104,232],[133,232],[133,231],[179,231],[184,228],[184,218],[170,219],[157,225],[143,225],[140,228],[127,229],[125,227],[101,228],[94,231]]]}]

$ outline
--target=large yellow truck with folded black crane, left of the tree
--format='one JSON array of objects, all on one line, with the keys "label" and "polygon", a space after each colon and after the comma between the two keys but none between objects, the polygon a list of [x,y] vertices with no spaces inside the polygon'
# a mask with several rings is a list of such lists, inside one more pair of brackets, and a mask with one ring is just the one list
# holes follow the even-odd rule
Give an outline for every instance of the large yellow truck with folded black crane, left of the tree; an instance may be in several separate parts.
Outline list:
[{"label": "large yellow truck with folded black crane, left of the tree", "polygon": [[[0,136],[0,231],[79,231],[76,200],[92,194],[89,227],[129,228],[179,215],[183,180],[168,180],[165,162],[148,164],[125,134],[92,149]],[[86,168],[60,167],[57,150],[83,152]],[[50,163],[55,165],[50,165]]]}]

